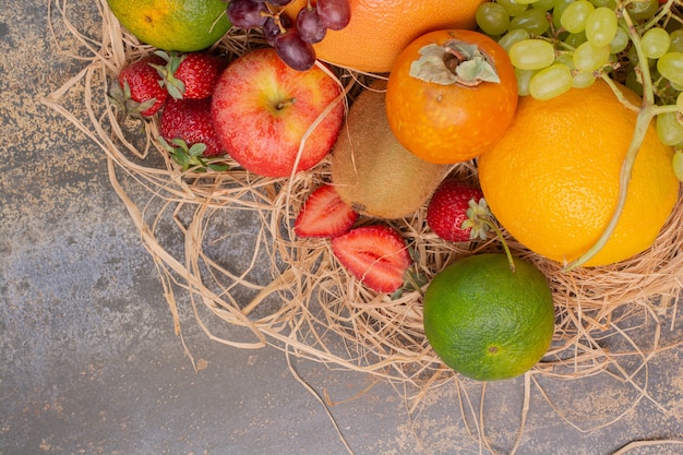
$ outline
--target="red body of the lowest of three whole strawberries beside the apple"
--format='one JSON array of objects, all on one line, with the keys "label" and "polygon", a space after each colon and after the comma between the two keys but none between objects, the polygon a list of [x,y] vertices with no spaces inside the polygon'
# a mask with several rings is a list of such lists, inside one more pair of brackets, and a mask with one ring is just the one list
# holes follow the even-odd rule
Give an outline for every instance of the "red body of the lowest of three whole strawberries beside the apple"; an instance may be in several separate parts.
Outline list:
[{"label": "red body of the lowest of three whole strawberries beside the apple", "polygon": [[[159,121],[161,137],[172,143],[173,140],[182,140],[188,147],[195,144],[204,144],[204,157],[214,157],[224,154],[224,147],[214,130],[211,116],[211,98],[204,99],[173,99],[169,98],[164,107]],[[195,148],[196,149],[196,148]],[[177,163],[188,165],[188,156],[183,151],[177,151],[173,156]],[[190,166],[196,163],[191,163]]]}]

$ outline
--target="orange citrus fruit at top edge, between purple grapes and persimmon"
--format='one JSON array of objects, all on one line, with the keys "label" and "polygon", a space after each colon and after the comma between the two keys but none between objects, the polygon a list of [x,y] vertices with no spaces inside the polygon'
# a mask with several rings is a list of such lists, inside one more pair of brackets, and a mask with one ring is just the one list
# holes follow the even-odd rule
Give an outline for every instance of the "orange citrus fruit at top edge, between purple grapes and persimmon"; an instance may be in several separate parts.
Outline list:
[{"label": "orange citrus fruit at top edge, between purple grapes and persimmon", "polygon": [[[350,0],[351,20],[340,31],[327,31],[314,45],[317,58],[337,67],[385,73],[410,41],[427,32],[476,26],[475,13],[486,0]],[[307,0],[295,0],[286,12],[296,17]]]}]

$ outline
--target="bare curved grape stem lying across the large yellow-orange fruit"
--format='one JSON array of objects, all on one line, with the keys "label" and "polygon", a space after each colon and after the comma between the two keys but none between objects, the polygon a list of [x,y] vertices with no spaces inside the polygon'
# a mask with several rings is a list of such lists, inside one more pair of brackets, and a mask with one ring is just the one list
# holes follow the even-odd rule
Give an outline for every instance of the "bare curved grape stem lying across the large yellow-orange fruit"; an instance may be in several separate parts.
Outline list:
[{"label": "bare curved grape stem lying across the large yellow-orange fruit", "polygon": [[616,86],[616,84],[607,74],[602,74],[602,80],[606,81],[610,85],[610,87],[612,87],[612,91],[614,92],[616,97],[624,104],[624,106],[628,107],[630,109],[635,108],[638,115],[636,117],[636,125],[633,132],[633,136],[631,139],[631,144],[628,145],[628,151],[626,152],[626,156],[624,157],[624,161],[622,163],[619,181],[619,197],[616,200],[616,206],[614,208],[614,212],[612,213],[612,217],[610,218],[607,227],[604,228],[596,243],[578,259],[565,265],[562,270],[563,272],[570,272],[574,268],[580,267],[590,259],[592,259],[604,247],[604,244],[614,232],[616,224],[619,223],[619,218],[621,217],[621,214],[624,209],[624,205],[626,205],[628,182],[631,180],[631,172],[633,170],[633,165],[635,164],[636,156],[638,155],[638,151],[643,145],[643,141],[645,140],[645,135],[652,119],[658,113],[661,113],[666,110],[655,104],[655,92],[652,89],[650,69],[647,64],[643,64],[644,62],[647,63],[648,60],[643,52],[640,35],[638,34],[633,23],[633,20],[628,15],[624,3],[619,1],[618,5],[621,15],[624,17],[624,22],[626,23],[626,32],[628,33],[631,41],[638,55],[638,68],[643,75],[643,104],[639,108],[633,106],[633,104],[628,103],[628,100],[625,99],[624,94]]}]

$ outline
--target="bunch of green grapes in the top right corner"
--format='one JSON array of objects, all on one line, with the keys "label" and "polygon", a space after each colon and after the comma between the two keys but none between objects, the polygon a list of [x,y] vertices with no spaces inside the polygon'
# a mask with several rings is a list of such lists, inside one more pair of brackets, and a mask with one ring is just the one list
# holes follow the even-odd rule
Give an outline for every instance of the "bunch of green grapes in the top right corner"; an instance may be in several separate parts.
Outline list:
[{"label": "bunch of green grapes in the top right corner", "polygon": [[493,0],[476,19],[507,51],[520,96],[550,99],[597,79],[639,94],[640,128],[656,119],[683,181],[683,0]]}]

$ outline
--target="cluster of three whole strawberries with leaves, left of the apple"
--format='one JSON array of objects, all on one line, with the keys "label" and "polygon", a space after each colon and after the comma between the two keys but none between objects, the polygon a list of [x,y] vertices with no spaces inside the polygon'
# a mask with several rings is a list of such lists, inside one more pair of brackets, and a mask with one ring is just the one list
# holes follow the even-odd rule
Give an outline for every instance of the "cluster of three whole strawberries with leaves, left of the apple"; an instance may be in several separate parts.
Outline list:
[{"label": "cluster of three whole strawberries with leaves, left of the apple", "polygon": [[225,166],[211,116],[211,97],[228,61],[205,52],[157,51],[121,70],[109,98],[123,116],[159,116],[159,144],[183,170]]}]

